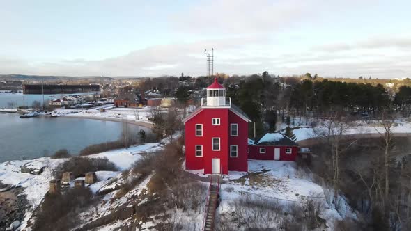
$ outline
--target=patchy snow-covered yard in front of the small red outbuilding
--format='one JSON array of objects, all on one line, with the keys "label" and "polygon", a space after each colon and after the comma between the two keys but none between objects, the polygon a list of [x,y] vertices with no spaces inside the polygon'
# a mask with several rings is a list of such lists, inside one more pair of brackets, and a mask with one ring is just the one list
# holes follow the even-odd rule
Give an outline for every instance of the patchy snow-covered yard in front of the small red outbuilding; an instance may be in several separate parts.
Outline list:
[{"label": "patchy snow-covered yard in front of the small red outbuilding", "polygon": [[327,221],[327,230],[332,230],[336,220],[357,217],[346,200],[341,200],[343,209],[340,212],[329,206],[326,200],[328,195],[322,186],[312,182],[307,173],[298,170],[294,162],[249,160],[249,173],[230,172],[224,178],[228,182],[221,185],[222,202],[217,209],[220,215],[233,212],[234,200],[252,197],[279,202],[286,207],[307,200],[318,200],[323,207],[320,216]]}]

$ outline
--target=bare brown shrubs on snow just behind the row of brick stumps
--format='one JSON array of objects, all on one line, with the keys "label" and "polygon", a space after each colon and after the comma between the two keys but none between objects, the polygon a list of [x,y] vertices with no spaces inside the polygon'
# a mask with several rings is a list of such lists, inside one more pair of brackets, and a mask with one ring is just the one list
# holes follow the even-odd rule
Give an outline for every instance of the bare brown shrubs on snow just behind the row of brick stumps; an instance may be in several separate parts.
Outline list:
[{"label": "bare brown shrubs on snow just behind the row of brick stumps", "polygon": [[113,162],[110,162],[106,157],[103,158],[88,158],[88,157],[71,157],[57,166],[54,176],[61,178],[65,172],[72,172],[75,177],[83,176],[88,172],[95,171],[116,171],[118,168]]}]

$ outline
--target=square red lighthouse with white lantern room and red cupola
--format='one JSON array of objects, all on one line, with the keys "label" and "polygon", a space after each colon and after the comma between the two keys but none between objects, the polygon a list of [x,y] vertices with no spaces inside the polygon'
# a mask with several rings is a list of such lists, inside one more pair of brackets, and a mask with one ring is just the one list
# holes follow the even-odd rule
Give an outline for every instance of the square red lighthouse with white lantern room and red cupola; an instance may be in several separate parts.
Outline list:
[{"label": "square red lighthouse with white lantern room and red cupola", "polygon": [[226,98],[226,89],[215,79],[201,106],[185,123],[185,167],[204,173],[247,171],[248,122],[251,120]]}]

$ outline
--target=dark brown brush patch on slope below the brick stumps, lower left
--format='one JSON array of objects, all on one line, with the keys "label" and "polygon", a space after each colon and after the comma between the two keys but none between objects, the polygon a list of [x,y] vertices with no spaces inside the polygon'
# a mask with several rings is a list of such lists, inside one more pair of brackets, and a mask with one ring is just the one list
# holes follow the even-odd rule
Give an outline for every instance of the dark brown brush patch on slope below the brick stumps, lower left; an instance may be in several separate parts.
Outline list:
[{"label": "dark brown brush patch on slope below the brick stumps, lower left", "polygon": [[70,230],[78,214],[95,202],[88,188],[72,188],[63,194],[46,194],[36,214],[33,230]]}]

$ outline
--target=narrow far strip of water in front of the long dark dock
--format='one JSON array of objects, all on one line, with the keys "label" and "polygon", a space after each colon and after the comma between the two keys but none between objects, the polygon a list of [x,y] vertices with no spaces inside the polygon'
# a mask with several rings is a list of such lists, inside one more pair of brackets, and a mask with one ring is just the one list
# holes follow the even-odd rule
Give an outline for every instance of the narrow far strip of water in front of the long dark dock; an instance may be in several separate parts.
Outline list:
[{"label": "narrow far strip of water in front of the long dark dock", "polygon": [[[89,93],[82,93],[84,95],[90,95]],[[75,94],[75,95],[82,95]],[[67,94],[69,95],[69,94]],[[45,95],[45,102],[47,100],[56,99],[56,96],[61,95]],[[42,104],[42,95],[23,95],[22,93],[0,93],[0,109],[8,108],[8,104],[13,104],[13,108],[17,106],[31,106],[33,101],[38,101]],[[16,106],[17,105],[17,106]]]}]

